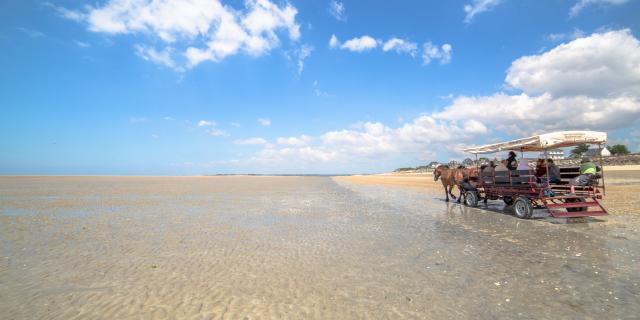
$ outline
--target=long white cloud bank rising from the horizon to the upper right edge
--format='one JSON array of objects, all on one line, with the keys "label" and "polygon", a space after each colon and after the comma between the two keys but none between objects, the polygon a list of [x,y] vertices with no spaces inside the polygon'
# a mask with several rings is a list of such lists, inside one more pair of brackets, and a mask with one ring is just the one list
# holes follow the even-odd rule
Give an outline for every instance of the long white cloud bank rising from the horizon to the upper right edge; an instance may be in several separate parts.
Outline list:
[{"label": "long white cloud bank rising from the horizon to the upper right edge", "polygon": [[[585,40],[590,44],[585,44]],[[365,122],[350,129],[325,132],[315,140],[312,137],[303,139],[303,136],[279,138],[278,145],[265,144],[262,150],[242,163],[248,166],[277,164],[280,168],[306,165],[306,170],[323,168],[324,172],[335,172],[336,167],[358,170],[362,166],[388,170],[398,164],[391,161],[394,157],[433,160],[434,150],[438,150],[440,156],[444,151],[461,156],[463,148],[489,142],[496,136],[516,138],[555,130],[635,128],[640,124],[640,93],[637,91],[640,78],[635,73],[640,65],[637,42],[628,30],[595,33],[539,55],[523,57],[527,61],[526,68],[522,65],[523,60],[513,61],[505,82],[522,92],[457,96],[445,107],[417,116],[398,127]],[[612,59],[630,70],[621,72],[617,67],[612,68]],[[564,83],[567,81],[556,82],[555,71],[550,72],[562,69],[570,74],[579,72],[579,66],[612,69],[611,72],[617,72],[622,79],[616,82],[617,87],[605,89],[609,93],[603,94],[602,88],[586,85],[601,82],[601,73],[581,73],[579,77],[586,78],[584,83],[575,83],[567,90]],[[522,74],[538,75],[531,79],[544,85],[517,82],[512,76],[519,75],[519,79],[523,79]],[[637,130],[632,134],[639,135]],[[388,167],[385,167],[386,161],[390,161]]]}]

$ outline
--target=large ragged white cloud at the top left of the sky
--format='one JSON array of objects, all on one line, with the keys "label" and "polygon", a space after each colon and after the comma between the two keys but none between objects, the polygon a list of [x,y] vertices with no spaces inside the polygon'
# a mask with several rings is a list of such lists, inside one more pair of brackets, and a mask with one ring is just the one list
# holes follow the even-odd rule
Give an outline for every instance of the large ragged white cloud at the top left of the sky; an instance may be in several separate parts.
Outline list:
[{"label": "large ragged white cloud at the top left of the sky", "polygon": [[[93,32],[156,38],[151,42],[163,48],[142,44],[140,47],[146,49],[137,49],[138,54],[183,71],[238,53],[263,55],[279,46],[278,33],[283,31],[291,41],[300,38],[298,11],[291,4],[278,6],[269,0],[248,0],[244,4],[238,10],[219,0],[109,0],[82,12],[54,8],[67,19],[85,22]],[[152,58],[154,53],[162,57]]]}]

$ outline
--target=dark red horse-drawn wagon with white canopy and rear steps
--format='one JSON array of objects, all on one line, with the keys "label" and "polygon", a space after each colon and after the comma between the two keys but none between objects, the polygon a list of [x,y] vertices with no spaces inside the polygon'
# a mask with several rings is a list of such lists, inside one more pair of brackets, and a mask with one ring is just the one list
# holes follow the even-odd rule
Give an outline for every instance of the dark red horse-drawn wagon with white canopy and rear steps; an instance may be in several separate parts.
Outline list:
[{"label": "dark red horse-drawn wagon with white canopy and rear steps", "polygon": [[[505,151],[544,152],[563,147],[581,144],[597,145],[602,148],[607,141],[607,134],[594,131],[564,131],[537,135],[533,137],[495,143],[465,149],[465,152],[491,154]],[[524,158],[524,157],[523,157]],[[526,161],[526,159],[521,160]],[[476,161],[477,163],[477,161]],[[490,168],[490,169],[487,169]],[[535,170],[527,165],[518,170],[495,170],[487,167],[481,170],[468,170],[468,175],[475,175],[476,183],[472,187],[462,188],[464,203],[477,206],[479,200],[503,200],[506,205],[513,205],[513,211],[519,218],[533,216],[534,209],[546,209],[553,217],[587,217],[607,215],[607,210],[600,204],[604,191],[604,171],[602,159],[598,172],[590,176],[586,185],[570,186],[573,179],[580,175],[576,166],[560,167],[561,179],[550,182],[547,166],[545,176],[536,176]],[[570,190],[573,189],[573,192]],[[461,194],[462,195],[462,194]]]}]

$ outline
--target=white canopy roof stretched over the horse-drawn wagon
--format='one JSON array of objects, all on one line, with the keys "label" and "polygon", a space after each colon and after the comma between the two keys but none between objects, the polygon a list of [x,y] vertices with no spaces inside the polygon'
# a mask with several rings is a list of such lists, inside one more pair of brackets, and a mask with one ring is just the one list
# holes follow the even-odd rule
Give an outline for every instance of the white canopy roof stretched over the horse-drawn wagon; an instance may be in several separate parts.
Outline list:
[{"label": "white canopy roof stretched over the horse-drawn wagon", "polygon": [[583,143],[603,144],[607,142],[607,133],[598,131],[558,131],[513,141],[488,144],[464,149],[470,153],[495,153],[505,150],[543,151],[546,149],[576,146]]}]

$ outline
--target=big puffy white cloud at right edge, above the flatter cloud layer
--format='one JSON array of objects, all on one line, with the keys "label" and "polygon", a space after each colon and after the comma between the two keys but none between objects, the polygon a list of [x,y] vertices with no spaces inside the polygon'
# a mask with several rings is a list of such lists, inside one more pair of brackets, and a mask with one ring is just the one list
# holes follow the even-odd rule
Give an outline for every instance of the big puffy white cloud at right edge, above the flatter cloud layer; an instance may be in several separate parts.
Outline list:
[{"label": "big puffy white cloud at right edge, above the flatter cloud layer", "polygon": [[554,97],[640,95],[640,42],[628,29],[595,33],[511,64],[506,82]]}]

